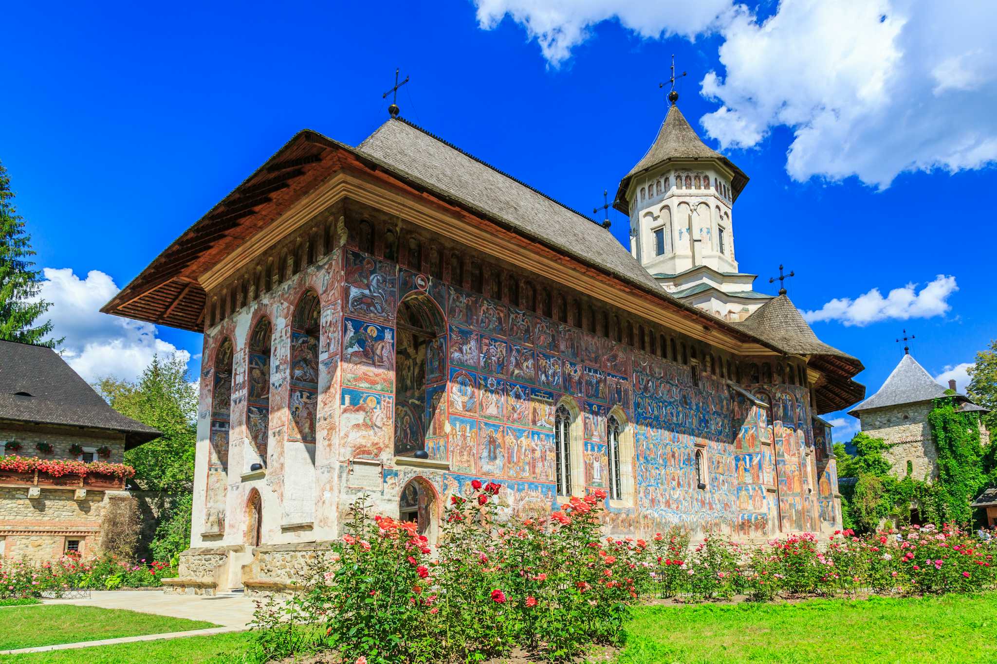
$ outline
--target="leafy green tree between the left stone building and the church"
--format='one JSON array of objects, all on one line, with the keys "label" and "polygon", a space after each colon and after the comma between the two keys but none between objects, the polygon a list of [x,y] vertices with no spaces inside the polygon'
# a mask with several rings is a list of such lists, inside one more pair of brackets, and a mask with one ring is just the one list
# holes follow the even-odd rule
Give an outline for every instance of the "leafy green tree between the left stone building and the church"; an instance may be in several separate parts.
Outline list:
[{"label": "leafy green tree between the left stone building and the church", "polygon": [[135,483],[148,491],[189,493],[197,441],[197,393],[187,380],[185,362],[154,356],[138,382],[104,378],[97,384],[111,406],[156,427],[160,438],[125,453],[135,467]]}]

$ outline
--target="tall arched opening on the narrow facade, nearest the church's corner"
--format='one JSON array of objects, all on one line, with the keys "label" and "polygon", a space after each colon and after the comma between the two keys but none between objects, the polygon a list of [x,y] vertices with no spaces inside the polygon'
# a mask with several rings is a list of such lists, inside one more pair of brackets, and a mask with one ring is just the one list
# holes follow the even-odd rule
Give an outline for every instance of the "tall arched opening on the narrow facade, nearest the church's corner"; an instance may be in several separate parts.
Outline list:
[{"label": "tall arched opening on the narrow facade, nearest the church's corner", "polygon": [[291,322],[291,380],[287,439],[314,443],[318,429],[318,346],[321,306],[318,295],[305,291]]}]

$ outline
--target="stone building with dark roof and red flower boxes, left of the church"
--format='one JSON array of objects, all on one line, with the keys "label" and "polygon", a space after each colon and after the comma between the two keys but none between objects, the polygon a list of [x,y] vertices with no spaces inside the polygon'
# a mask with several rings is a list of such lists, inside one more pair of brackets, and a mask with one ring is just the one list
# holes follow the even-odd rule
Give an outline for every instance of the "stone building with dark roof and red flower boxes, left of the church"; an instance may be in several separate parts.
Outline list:
[{"label": "stone building with dark roof and red flower boxes, left of the church", "polygon": [[109,406],[51,348],[0,340],[0,456],[97,462],[85,475],[0,464],[0,557],[99,553],[106,512],[130,494],[124,477],[98,471],[159,435]]}]

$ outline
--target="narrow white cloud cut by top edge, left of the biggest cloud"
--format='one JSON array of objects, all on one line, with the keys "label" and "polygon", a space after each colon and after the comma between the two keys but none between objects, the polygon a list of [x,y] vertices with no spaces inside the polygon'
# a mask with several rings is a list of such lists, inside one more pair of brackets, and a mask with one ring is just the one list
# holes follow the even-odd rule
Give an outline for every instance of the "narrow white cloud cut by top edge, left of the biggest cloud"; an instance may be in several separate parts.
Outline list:
[{"label": "narrow white cloud cut by top edge, left of the biggest cloud", "polygon": [[644,39],[681,35],[695,39],[711,32],[732,11],[730,0],[474,0],[478,24],[492,30],[505,16],[536,40],[543,58],[559,67],[571,50],[591,36],[590,28],[616,20]]}]

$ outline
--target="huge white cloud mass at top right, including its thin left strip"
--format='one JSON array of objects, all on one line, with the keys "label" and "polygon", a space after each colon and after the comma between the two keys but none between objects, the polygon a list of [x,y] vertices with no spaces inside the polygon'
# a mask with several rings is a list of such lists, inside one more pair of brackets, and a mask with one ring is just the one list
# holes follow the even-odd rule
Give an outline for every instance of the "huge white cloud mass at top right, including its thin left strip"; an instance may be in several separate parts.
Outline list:
[{"label": "huge white cloud mass at top right, including its thin left strip", "polygon": [[608,20],[645,39],[718,34],[701,118],[723,147],[793,132],[790,176],[878,188],[905,171],[997,160],[997,2],[783,0],[764,21],[732,0],[475,0],[482,28],[522,25],[553,67]]}]

